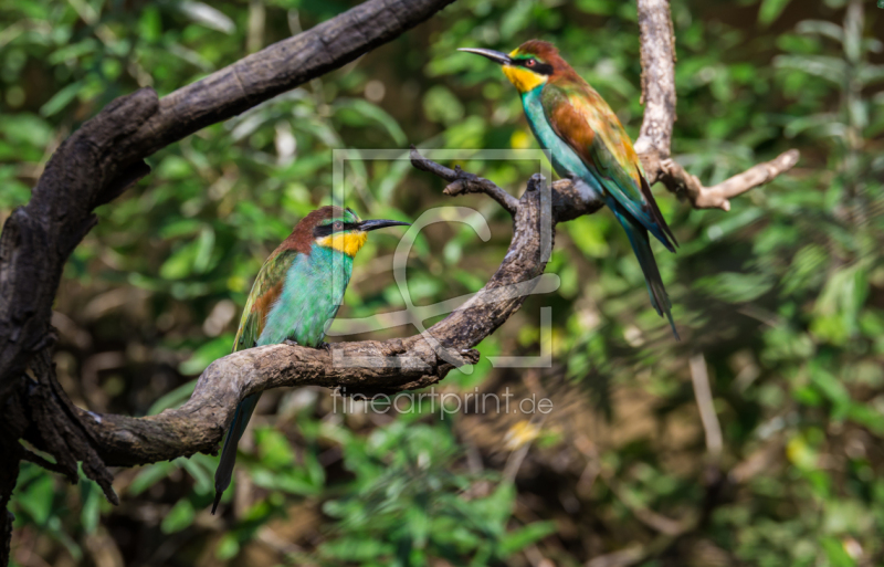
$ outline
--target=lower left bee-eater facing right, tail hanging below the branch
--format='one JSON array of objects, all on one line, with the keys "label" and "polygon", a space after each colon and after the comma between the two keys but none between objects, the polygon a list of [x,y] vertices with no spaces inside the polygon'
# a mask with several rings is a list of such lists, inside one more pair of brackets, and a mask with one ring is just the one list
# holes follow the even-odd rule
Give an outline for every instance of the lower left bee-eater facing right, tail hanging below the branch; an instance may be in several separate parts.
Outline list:
[{"label": "lower left bee-eater facing right, tail hanging below the branch", "polygon": [[[322,207],[304,217],[292,234],[264,262],[245,302],[233,351],[278,343],[322,348],[327,323],[344,300],[352,273],[352,259],[368,240],[368,232],[408,222],[360,220],[349,208]],[[261,392],[236,406],[221,461],[214,473],[214,503],[230,485],[236,444]]]}]

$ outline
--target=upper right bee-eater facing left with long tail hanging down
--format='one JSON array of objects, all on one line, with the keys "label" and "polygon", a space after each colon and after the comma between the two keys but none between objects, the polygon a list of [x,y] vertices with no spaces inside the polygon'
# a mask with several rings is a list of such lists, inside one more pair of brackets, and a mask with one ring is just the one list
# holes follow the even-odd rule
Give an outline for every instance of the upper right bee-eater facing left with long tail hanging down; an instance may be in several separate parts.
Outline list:
[{"label": "upper right bee-eater facing left with long tail hanging down", "polygon": [[651,304],[665,314],[672,333],[672,304],[648,233],[670,252],[678,244],[651,193],[632,140],[608,103],[559,56],[548,42],[532,40],[515,51],[462,49],[503,66],[522,95],[534,136],[552,158],[552,168],[570,179],[589,200],[601,199],[627,231],[648,283]]}]

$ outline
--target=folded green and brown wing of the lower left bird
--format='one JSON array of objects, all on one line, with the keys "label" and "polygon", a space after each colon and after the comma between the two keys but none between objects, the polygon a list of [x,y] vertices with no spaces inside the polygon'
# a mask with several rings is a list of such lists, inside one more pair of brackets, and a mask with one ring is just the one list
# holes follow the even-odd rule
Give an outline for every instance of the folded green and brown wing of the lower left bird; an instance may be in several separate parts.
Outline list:
[{"label": "folded green and brown wing of the lower left bird", "polygon": [[285,273],[298,254],[296,250],[276,250],[261,266],[240,318],[240,328],[233,339],[233,351],[257,345],[267,314],[283,291]]}]

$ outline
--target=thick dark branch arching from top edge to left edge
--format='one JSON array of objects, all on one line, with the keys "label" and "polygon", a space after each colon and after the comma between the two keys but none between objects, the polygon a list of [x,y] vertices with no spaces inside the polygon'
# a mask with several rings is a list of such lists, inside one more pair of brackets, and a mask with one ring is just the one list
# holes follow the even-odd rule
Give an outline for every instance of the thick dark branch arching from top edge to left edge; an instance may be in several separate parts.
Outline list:
[{"label": "thick dark branch arching from top edge to left edge", "polygon": [[51,305],[95,207],[149,171],[158,149],[348,63],[453,0],[370,0],[275,43],[161,99],[120,97],[62,144],[30,202],[0,237],[0,406],[28,360],[53,343]]}]

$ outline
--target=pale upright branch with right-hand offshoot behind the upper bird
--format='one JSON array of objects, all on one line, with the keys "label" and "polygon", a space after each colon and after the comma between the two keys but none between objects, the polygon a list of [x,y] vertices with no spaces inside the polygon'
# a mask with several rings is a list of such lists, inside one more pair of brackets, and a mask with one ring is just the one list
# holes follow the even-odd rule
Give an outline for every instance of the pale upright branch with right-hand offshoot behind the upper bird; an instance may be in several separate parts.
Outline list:
[{"label": "pale upright branch with right-hand offshoot behind the upper bird", "polygon": [[687,199],[695,209],[730,210],[729,199],[767,183],[791,169],[800,157],[797,149],[743,174],[704,187],[699,180],[670,159],[675,124],[675,34],[669,0],[638,0],[641,33],[642,102],[644,119],[635,151],[648,181],[661,181],[666,189]]}]

